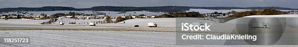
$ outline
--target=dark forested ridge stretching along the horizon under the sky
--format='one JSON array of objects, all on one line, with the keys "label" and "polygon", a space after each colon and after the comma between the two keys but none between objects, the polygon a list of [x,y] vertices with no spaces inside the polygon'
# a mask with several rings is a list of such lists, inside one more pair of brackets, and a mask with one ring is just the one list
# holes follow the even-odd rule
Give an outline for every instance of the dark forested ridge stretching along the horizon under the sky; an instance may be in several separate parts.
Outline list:
[{"label": "dark forested ridge stretching along the horizon under the sky", "polygon": [[117,11],[117,12],[128,12],[128,11],[150,11],[150,12],[184,12],[189,9],[212,9],[212,10],[229,10],[229,9],[252,9],[261,10],[272,8],[275,10],[298,10],[292,8],[282,7],[188,7],[188,6],[158,6],[158,7],[119,7],[119,6],[96,6],[92,8],[76,9],[73,7],[56,7],[46,6],[40,8],[2,8],[0,12],[18,12],[18,11]]}]

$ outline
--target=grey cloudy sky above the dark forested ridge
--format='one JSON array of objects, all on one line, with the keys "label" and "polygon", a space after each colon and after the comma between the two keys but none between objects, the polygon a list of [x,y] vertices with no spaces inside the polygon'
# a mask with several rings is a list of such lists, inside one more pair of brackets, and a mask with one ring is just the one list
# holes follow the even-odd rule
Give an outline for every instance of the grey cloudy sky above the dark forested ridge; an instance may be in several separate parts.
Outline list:
[{"label": "grey cloudy sky above the dark forested ridge", "polygon": [[298,0],[0,0],[0,8],[66,6],[198,6],[198,7],[287,7],[298,8]]}]

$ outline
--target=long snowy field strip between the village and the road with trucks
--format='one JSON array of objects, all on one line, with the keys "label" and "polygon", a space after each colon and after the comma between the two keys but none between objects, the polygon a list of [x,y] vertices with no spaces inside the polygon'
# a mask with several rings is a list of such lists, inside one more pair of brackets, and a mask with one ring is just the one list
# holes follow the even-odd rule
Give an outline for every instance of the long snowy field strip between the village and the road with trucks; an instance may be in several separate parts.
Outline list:
[{"label": "long snowy field strip between the village and the road with trucks", "polygon": [[[119,22],[117,24],[100,24],[97,23],[96,26],[114,26],[114,27],[134,27],[134,25],[139,25],[140,27],[148,27],[148,23],[157,23],[158,27],[176,27],[176,19],[177,18],[137,18],[125,20],[123,22]],[[183,19],[185,22],[201,22],[208,24],[217,24],[216,22],[212,22],[210,20],[202,20],[202,18],[179,18]],[[215,20],[215,19],[214,19]],[[9,19],[5,21],[0,19],[0,24],[39,24],[42,22],[47,22],[49,20],[23,20],[23,19]],[[75,19],[63,19],[57,20],[54,24],[59,24],[59,22],[64,22],[65,25],[89,25],[90,22],[99,22],[104,21],[104,19],[91,19],[91,20],[75,20]],[[116,21],[112,19],[112,21]],[[76,23],[76,24],[68,24],[68,23]],[[125,23],[124,23],[125,22]]]}]

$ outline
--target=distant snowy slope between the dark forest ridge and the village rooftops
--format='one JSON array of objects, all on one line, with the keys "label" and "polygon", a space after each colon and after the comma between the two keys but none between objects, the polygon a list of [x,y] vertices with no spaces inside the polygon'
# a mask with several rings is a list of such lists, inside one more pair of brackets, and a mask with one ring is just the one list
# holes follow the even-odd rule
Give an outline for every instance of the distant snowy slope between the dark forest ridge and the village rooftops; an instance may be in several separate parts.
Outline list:
[{"label": "distant snowy slope between the dark forest ridge and the village rooftops", "polygon": [[[41,13],[52,15],[52,14],[55,14],[55,13],[69,13],[69,12],[93,14],[93,11],[40,11],[40,12],[28,12],[27,14],[24,14],[24,15],[29,15],[30,13],[33,13],[34,15],[40,15]],[[140,15],[140,14],[145,14],[145,15],[161,15],[161,14],[164,14],[164,13],[161,13],[161,12],[148,12],[148,11],[133,11],[133,12],[126,12],[126,13],[119,13],[119,12],[112,12],[112,11],[98,11],[98,12],[103,12],[103,13],[106,13],[106,15],[110,15],[110,16]],[[22,14],[22,13],[17,13],[17,12],[8,12],[8,13],[2,13],[2,14],[13,14],[13,13],[14,14]],[[98,16],[104,16],[104,15],[98,15]]]}]

